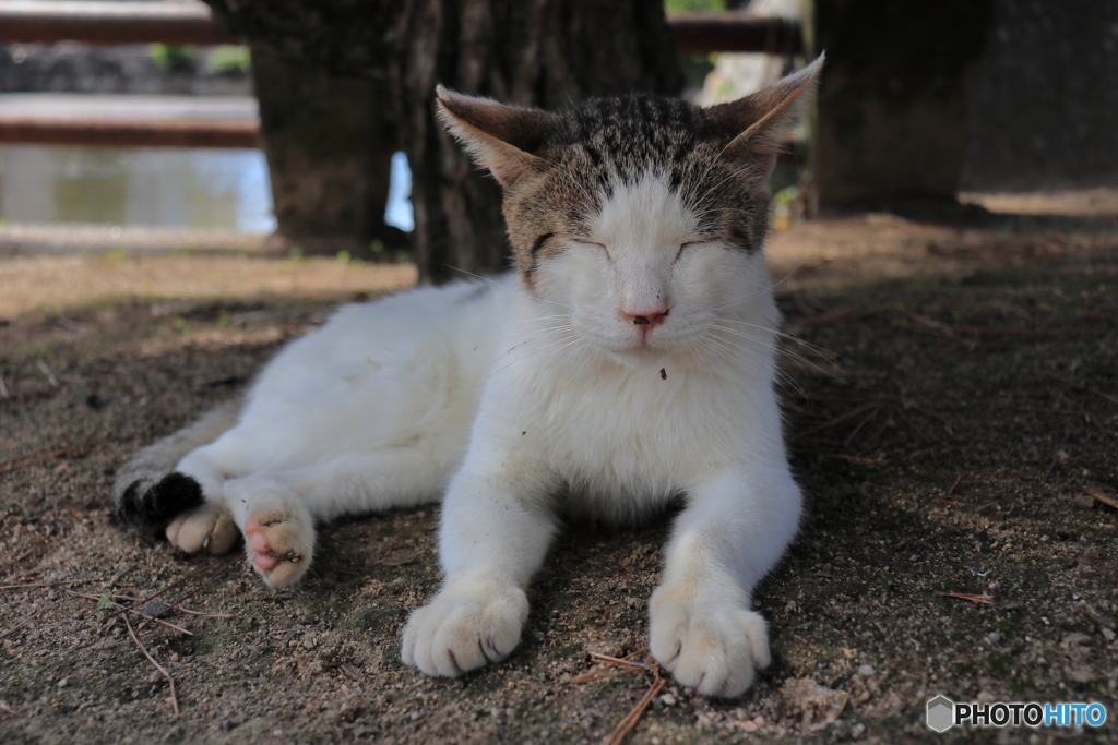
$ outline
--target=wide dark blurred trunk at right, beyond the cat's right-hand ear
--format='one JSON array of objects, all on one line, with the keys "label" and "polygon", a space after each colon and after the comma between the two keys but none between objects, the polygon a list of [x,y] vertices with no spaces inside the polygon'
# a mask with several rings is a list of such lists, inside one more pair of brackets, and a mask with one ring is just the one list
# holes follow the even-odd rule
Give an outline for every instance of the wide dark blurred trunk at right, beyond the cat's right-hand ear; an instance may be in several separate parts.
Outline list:
[{"label": "wide dark blurred trunk at right, beyond the cat's right-hand ear", "polygon": [[803,0],[819,76],[813,212],[954,203],[993,0]]}]

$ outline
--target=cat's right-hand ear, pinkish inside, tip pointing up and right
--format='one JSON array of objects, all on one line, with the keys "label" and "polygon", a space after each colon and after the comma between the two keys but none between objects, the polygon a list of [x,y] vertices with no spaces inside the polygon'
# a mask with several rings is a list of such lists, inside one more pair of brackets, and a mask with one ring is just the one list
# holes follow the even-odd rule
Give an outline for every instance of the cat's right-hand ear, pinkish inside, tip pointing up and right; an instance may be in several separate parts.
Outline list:
[{"label": "cat's right-hand ear, pinkish inside, tip pointing up and right", "polygon": [[740,161],[762,180],[776,165],[784,136],[807,106],[824,55],[804,69],[745,98],[711,106],[707,112],[730,141],[723,154]]}]

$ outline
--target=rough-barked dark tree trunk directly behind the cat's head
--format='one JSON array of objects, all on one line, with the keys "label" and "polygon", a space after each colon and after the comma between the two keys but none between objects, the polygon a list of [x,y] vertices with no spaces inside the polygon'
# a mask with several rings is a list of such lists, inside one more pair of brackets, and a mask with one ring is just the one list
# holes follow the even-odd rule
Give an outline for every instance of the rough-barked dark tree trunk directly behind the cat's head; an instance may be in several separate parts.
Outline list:
[{"label": "rough-barked dark tree trunk directly behind the cat's head", "polygon": [[629,90],[676,93],[663,6],[650,0],[207,0],[230,29],[288,59],[382,76],[408,155],[424,279],[508,264],[496,183],[435,118],[435,85],[561,107]]}]

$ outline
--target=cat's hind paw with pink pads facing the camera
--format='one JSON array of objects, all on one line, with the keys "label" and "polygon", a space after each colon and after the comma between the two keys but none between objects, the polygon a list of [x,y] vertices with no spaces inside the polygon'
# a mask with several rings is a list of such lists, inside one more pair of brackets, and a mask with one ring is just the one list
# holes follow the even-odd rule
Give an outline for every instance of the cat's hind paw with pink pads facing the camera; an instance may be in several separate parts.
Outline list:
[{"label": "cat's hind paw with pink pads facing the camera", "polygon": [[253,569],[272,588],[302,579],[314,553],[310,517],[282,509],[254,512],[245,520],[245,553]]}]

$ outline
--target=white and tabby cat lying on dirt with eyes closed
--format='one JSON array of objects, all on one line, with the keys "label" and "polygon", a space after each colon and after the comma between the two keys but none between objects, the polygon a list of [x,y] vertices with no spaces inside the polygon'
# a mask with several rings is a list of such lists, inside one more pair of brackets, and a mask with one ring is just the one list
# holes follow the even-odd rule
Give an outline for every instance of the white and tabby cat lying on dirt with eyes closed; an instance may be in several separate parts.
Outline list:
[{"label": "white and tabby cat lying on dirt with eyes closed", "polygon": [[504,659],[560,515],[632,520],[682,497],[650,649],[736,696],[769,662],[754,585],[800,494],[774,392],[766,181],[822,59],[740,101],[652,96],[548,114],[439,88],[504,191],[515,270],[341,308],[243,401],[141,451],[117,520],[186,552],[244,535],[296,582],[314,523],[442,497],[445,582],[402,658],[459,676]]}]

